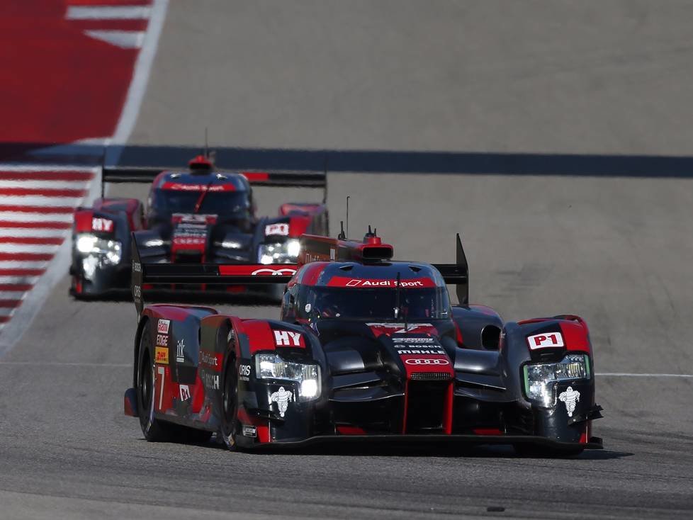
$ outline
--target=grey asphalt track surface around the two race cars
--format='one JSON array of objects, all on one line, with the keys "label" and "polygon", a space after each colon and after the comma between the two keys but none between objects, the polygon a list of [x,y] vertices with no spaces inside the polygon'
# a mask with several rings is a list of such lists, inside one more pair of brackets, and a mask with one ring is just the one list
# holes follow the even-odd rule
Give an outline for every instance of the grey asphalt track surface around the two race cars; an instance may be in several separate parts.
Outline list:
[{"label": "grey asphalt track surface around the two race cars", "polygon": [[[687,154],[686,2],[173,2],[132,141]],[[115,193],[115,192],[114,192]],[[451,261],[508,320],[575,312],[598,373],[691,374],[693,181],[331,174],[399,258]],[[259,191],[261,210],[319,193]],[[333,230],[334,231],[334,230]],[[231,308],[276,316],[270,307]],[[0,360],[0,516],[689,517],[692,378],[599,376],[604,451],[257,455],[147,443],[123,416],[135,310],[67,279]],[[488,508],[505,508],[488,511]]]}]

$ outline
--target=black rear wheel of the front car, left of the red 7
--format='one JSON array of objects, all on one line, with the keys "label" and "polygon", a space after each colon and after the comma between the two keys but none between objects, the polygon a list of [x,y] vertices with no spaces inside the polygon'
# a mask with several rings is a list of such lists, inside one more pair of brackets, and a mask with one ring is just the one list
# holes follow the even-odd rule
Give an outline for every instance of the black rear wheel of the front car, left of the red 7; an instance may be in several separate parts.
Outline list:
[{"label": "black rear wheel of the front car, left of the red 7", "polygon": [[140,426],[145,439],[150,442],[167,441],[171,438],[173,424],[154,419],[154,382],[156,381],[152,361],[150,324],[145,323],[140,338],[140,361],[137,363],[137,409],[140,411]]}]

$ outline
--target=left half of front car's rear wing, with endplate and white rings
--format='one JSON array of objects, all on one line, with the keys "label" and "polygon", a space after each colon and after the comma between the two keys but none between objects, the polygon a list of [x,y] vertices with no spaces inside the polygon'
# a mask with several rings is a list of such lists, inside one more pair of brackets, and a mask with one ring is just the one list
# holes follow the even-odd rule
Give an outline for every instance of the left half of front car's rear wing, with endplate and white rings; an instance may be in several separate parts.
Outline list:
[{"label": "left half of front car's rear wing, with endplate and white rings", "polygon": [[142,288],[147,285],[254,285],[281,283],[291,280],[296,264],[143,264],[133,240],[133,266],[130,289],[137,309],[142,315],[145,300]]}]

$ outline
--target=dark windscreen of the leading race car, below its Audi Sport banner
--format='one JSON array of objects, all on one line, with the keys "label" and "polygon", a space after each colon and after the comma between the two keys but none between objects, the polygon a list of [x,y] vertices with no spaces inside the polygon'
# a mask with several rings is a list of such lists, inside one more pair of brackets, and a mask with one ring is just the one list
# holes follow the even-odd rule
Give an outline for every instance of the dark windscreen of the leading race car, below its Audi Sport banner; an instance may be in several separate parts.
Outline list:
[{"label": "dark windscreen of the leading race car, below its Audi Sport banner", "polygon": [[299,315],[311,320],[445,320],[450,300],[444,287],[395,288],[300,288]]}]

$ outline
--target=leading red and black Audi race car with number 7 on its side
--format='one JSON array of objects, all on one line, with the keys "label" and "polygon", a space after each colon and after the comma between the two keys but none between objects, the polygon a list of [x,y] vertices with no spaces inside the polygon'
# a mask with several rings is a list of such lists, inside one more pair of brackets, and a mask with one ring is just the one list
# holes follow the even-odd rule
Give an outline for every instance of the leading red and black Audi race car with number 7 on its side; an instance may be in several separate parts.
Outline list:
[{"label": "leading red and black Audi race car with number 7 on its side", "polygon": [[[125,414],[139,417],[148,441],[502,443],[560,456],[602,448],[585,321],[503,322],[469,305],[459,235],[456,264],[439,265],[393,261],[393,246],[370,229],[363,242],[304,234],[300,244],[295,266],[146,264],[135,250]],[[278,320],[142,300],[145,283],[261,278],[286,283]]]}]

